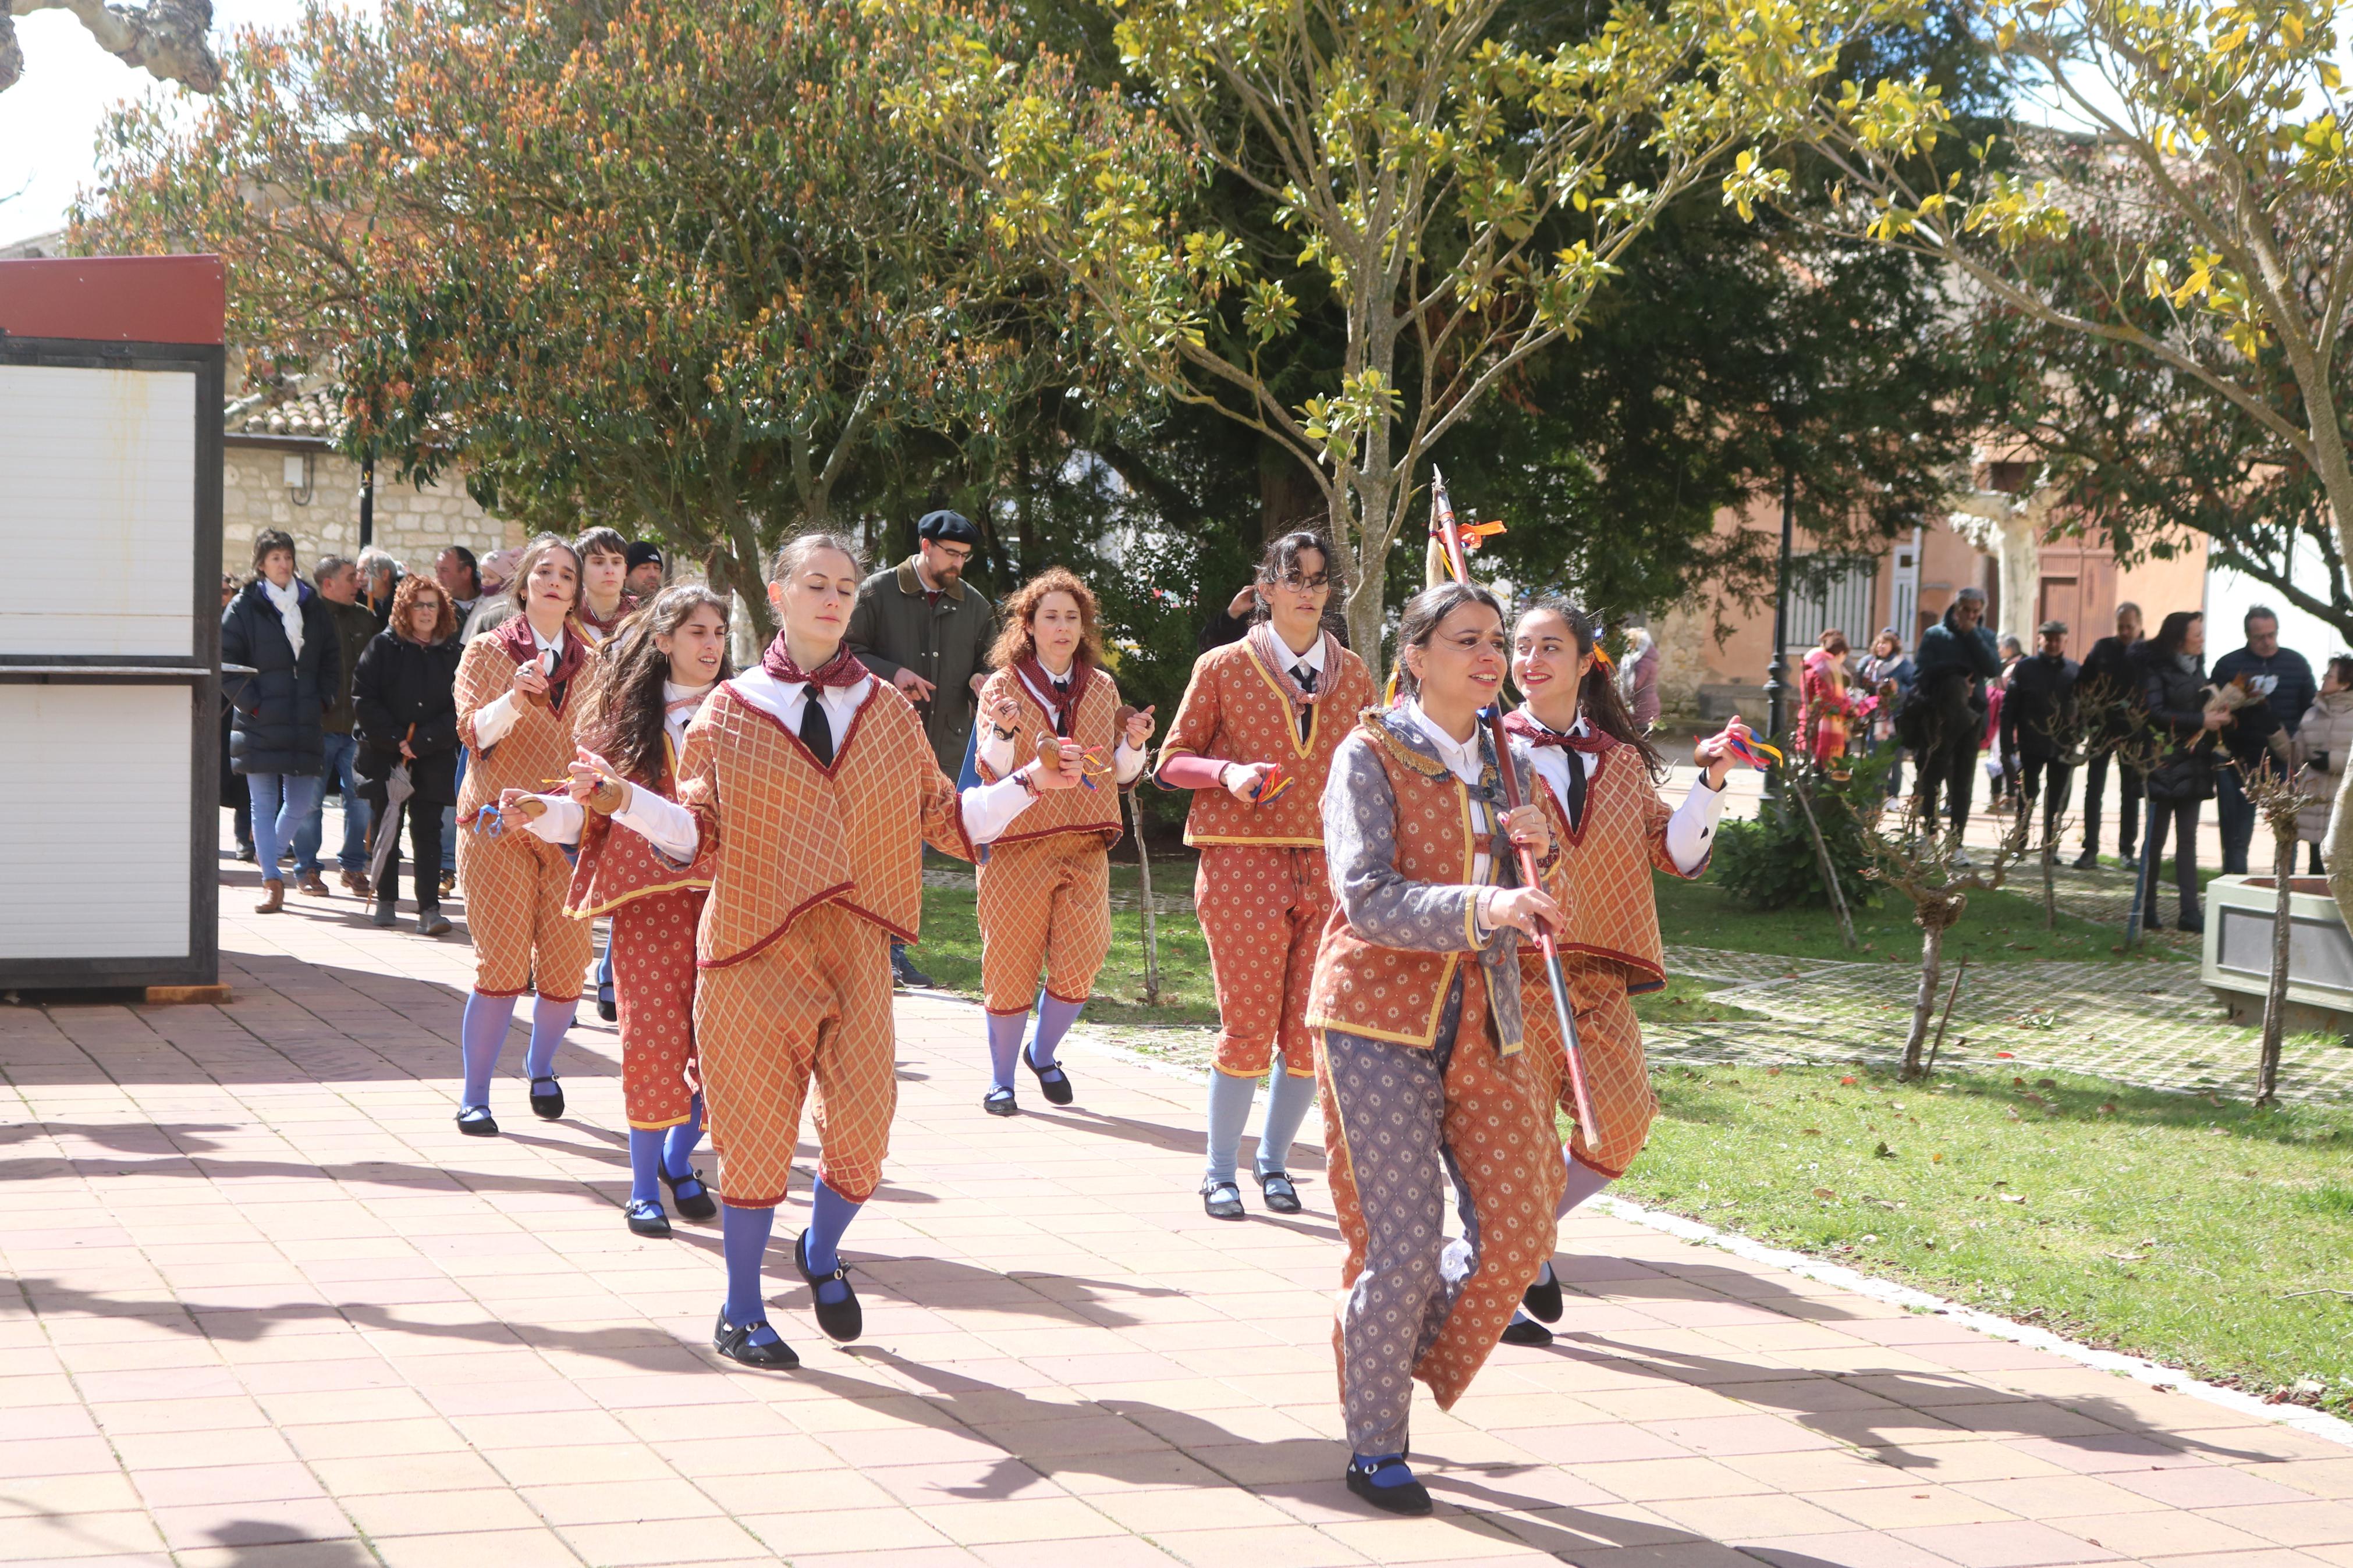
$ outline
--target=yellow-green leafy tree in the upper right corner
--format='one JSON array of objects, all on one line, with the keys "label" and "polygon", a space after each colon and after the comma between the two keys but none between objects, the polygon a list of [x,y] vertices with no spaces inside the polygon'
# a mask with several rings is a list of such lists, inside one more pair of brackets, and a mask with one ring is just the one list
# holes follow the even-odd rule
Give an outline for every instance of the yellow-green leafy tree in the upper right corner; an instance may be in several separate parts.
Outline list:
[{"label": "yellow-green leafy tree in the upper right corner", "polygon": [[[2353,550],[2341,16],[2337,0],[1977,0],[1972,21],[1998,68],[2021,94],[2047,96],[2082,141],[1953,136],[1934,87],[1901,78],[1847,80],[1814,106],[1812,132],[1845,176],[1854,230],[2261,430],[2287,470],[2311,475],[2337,559]],[[2009,167],[1993,167],[2002,155]],[[1984,179],[1962,183],[1972,169]],[[2104,221],[2127,174],[2146,221]],[[2080,230],[2099,268],[2061,277],[2052,247]],[[2160,395],[2132,416],[2162,418],[2165,407],[2184,404]],[[2353,912],[2344,797],[2327,863]]]}]

